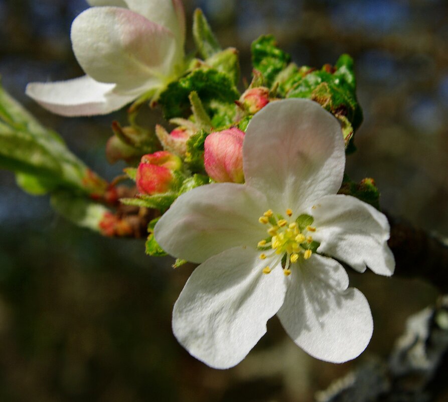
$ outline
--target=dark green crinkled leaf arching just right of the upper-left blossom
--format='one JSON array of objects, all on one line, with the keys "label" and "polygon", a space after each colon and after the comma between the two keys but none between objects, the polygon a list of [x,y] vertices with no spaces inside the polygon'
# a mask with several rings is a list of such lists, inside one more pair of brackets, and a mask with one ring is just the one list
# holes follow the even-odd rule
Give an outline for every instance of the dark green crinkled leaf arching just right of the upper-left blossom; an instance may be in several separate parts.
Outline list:
[{"label": "dark green crinkled leaf arching just right of the upper-left blossom", "polygon": [[189,95],[192,91],[198,93],[207,114],[213,120],[213,101],[232,103],[239,98],[239,92],[230,77],[213,68],[201,67],[188,75],[172,82],[161,93],[159,104],[164,117],[186,117],[190,114]]}]

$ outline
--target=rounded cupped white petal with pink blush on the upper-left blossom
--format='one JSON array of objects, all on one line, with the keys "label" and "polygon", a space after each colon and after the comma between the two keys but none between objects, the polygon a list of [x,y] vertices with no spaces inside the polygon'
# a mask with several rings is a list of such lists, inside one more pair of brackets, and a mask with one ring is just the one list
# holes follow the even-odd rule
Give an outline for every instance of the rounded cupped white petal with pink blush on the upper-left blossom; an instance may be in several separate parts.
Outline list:
[{"label": "rounded cupped white petal with pink blush on the upper-left blossom", "polygon": [[162,84],[179,62],[169,30],[118,7],[85,10],[73,21],[71,39],[84,71],[119,91]]}]

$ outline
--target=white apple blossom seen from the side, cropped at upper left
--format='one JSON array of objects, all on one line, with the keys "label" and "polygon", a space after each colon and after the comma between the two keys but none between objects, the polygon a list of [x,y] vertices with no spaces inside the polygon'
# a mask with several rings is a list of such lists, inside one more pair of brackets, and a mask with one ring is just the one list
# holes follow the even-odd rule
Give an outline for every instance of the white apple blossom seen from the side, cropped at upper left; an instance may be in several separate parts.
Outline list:
[{"label": "white apple blossom seen from the side, cropped at upper left", "polygon": [[[30,83],[26,93],[65,116],[107,114],[176,78],[184,60],[181,0],[89,0],[72,24],[83,77]],[[118,6],[118,7],[117,7]]]}]

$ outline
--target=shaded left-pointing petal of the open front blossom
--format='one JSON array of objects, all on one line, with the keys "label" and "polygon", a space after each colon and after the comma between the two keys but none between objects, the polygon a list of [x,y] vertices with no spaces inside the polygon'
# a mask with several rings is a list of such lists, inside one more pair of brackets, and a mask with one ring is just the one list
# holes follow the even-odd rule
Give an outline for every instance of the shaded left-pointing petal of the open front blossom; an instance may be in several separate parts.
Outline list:
[{"label": "shaded left-pointing petal of the open front blossom", "polygon": [[169,254],[203,262],[231,247],[256,247],[267,237],[258,217],[267,209],[258,191],[235,183],[208,184],[181,195],[155,227]]}]

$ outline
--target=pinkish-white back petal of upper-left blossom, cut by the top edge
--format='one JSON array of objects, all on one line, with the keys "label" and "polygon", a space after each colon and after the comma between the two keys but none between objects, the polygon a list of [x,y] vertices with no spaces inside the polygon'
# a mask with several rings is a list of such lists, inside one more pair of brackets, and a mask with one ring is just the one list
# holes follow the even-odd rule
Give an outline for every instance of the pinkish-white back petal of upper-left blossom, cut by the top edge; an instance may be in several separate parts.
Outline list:
[{"label": "pinkish-white back petal of upper-left blossom, cut by the top edge", "polygon": [[185,14],[182,0],[125,0],[129,10],[169,29],[181,48],[185,41]]}]

